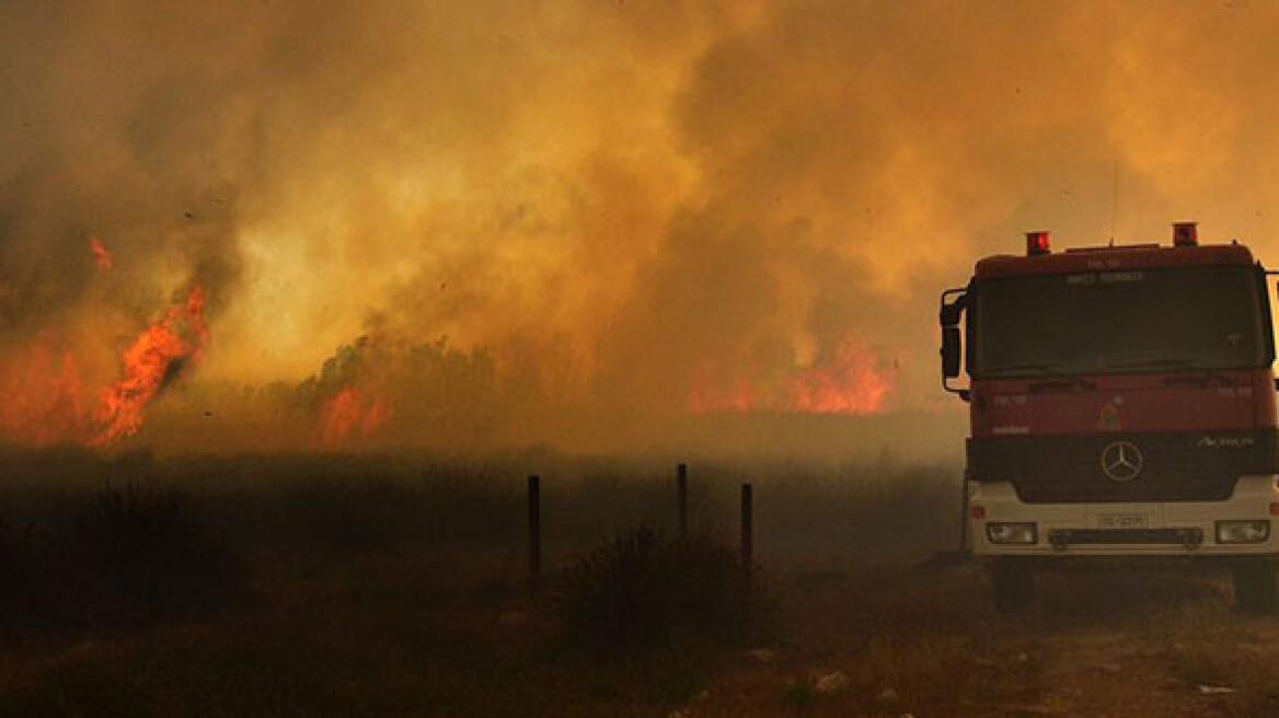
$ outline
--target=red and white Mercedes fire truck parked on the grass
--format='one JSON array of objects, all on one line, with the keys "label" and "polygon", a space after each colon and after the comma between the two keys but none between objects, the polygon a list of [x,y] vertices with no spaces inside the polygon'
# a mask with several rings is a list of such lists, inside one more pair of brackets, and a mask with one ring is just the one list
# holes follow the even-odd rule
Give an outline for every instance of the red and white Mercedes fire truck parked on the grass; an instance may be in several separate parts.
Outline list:
[{"label": "red and white Mercedes fire truck parked on the grass", "polygon": [[[1279,431],[1266,270],[1247,247],[1173,244],[977,262],[941,295],[943,387],[968,402],[966,523],[996,606],[1035,575],[1173,563],[1275,606]],[[967,374],[967,382],[961,379]]]}]

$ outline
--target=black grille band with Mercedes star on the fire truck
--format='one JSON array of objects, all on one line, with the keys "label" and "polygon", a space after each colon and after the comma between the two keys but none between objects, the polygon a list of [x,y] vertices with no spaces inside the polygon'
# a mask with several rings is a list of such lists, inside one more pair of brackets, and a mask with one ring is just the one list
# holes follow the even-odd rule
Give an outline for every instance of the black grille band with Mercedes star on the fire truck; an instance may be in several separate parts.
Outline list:
[{"label": "black grille band with Mercedes star on the fire truck", "polygon": [[[1140,471],[1128,480],[1115,480],[1102,469],[1102,454],[1117,442],[1136,447],[1141,456]],[[1009,482],[1027,503],[1223,501],[1234,492],[1239,475],[1279,473],[1276,445],[1273,428],[1191,434],[982,437],[968,439],[968,477],[978,482]]]}]

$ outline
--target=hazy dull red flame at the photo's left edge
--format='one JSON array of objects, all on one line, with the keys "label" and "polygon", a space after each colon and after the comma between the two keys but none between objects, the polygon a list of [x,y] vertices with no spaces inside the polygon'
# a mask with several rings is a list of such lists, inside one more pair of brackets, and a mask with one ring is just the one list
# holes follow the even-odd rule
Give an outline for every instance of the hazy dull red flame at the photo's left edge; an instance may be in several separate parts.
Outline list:
[{"label": "hazy dull red flame at the photo's left edge", "polygon": [[43,336],[10,351],[0,374],[0,437],[33,446],[84,436],[88,413],[81,376],[69,350]]}]

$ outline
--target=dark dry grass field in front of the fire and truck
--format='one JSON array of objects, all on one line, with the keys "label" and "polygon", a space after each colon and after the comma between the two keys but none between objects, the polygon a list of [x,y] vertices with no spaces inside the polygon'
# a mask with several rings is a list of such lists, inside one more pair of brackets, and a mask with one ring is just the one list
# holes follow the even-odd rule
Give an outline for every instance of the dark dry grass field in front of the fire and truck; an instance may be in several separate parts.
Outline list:
[{"label": "dark dry grass field in front of the fire and truck", "polygon": [[694,464],[693,546],[665,462],[3,469],[4,717],[1279,714],[1279,618],[1233,615],[1220,577],[1049,576],[1009,618],[978,567],[921,570],[957,540],[948,468]]}]

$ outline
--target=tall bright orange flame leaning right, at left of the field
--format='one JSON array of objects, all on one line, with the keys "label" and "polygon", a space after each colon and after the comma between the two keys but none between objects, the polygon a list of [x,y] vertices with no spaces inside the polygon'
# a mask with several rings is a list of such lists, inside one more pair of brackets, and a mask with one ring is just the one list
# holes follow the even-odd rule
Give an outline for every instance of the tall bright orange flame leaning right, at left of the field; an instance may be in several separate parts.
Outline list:
[{"label": "tall bright orange flame leaning right, at left of the field", "polygon": [[88,441],[90,446],[105,446],[137,433],[146,405],[188,362],[201,360],[207,341],[205,291],[196,285],[185,304],[170,307],[120,356],[124,378],[102,390],[102,404],[95,416],[102,428]]}]

